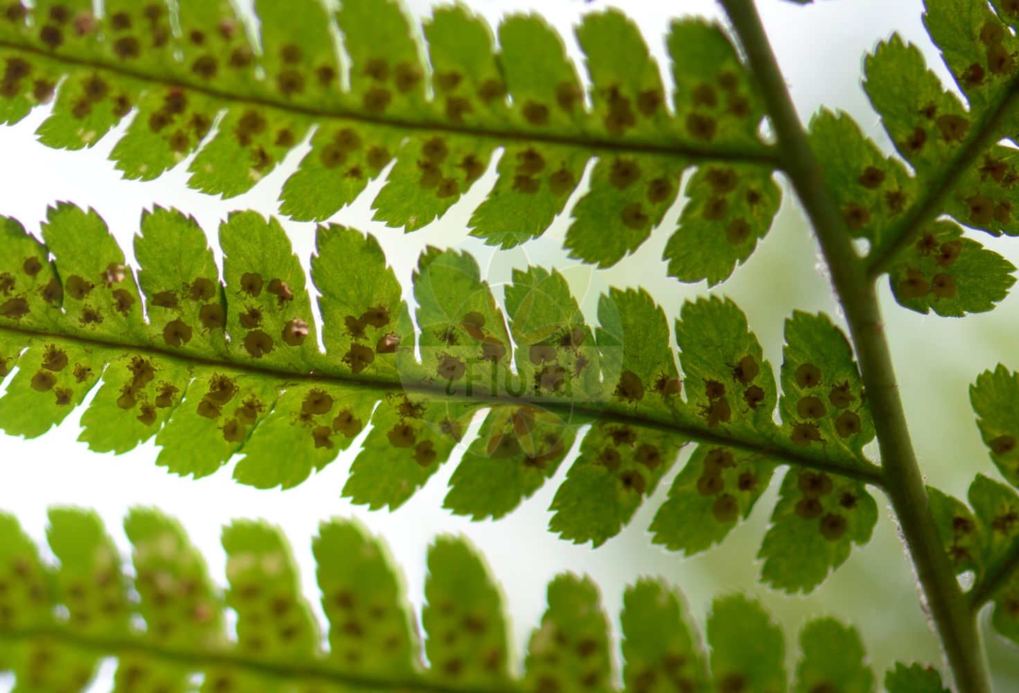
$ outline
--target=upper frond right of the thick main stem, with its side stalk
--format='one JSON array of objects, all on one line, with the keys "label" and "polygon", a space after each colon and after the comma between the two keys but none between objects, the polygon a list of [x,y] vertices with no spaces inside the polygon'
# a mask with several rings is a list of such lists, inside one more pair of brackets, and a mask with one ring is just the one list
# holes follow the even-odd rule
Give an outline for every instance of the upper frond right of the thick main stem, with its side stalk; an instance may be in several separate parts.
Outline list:
[{"label": "upper frond right of the thick main stem, with its side stalk", "polygon": [[[963,315],[989,310],[1014,281],[1010,263],[936,218],[950,215],[993,235],[1019,234],[1017,161],[1014,148],[1002,142],[1019,98],[1010,29],[1019,15],[979,0],[924,4],[924,24],[965,103],[926,67],[920,50],[897,35],[865,60],[867,95],[913,173],[864,144],[845,116],[836,123],[825,114],[822,125],[850,138],[837,158],[855,152],[854,165],[840,162],[843,184],[833,190],[851,231],[871,243],[871,274],[889,272],[907,308]],[[830,138],[814,135],[827,155],[834,154]]]}]

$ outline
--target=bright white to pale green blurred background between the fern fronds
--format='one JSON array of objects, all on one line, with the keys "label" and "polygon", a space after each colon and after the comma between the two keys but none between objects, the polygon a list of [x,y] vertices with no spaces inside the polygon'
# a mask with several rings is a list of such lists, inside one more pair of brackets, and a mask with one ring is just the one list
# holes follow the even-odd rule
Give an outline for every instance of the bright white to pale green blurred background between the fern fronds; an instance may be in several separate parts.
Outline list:
[{"label": "bright white to pale green blurred background between the fern fronds", "polygon": [[[428,0],[414,0],[410,4],[418,15],[429,11]],[[671,16],[718,14],[709,0],[624,3],[596,0],[589,4],[579,0],[530,3],[473,0],[469,4],[492,20],[505,12],[536,9],[564,33],[578,58],[570,25],[585,11],[609,4],[623,7],[641,25],[659,61],[664,58],[663,31]],[[864,53],[893,31],[919,44],[928,62],[943,76],[947,75],[923,31],[919,0],[821,0],[808,7],[783,0],[760,0],[759,4],[793,98],[805,119],[820,104],[842,108],[856,117],[864,131],[887,145],[876,115],[860,88],[860,73]],[[667,86],[671,79],[667,74],[665,78]],[[33,134],[47,110],[37,109],[17,125],[0,128],[0,160],[4,164],[0,166],[0,214],[14,216],[26,228],[38,232],[47,205],[56,200],[92,206],[110,224],[128,259],[130,239],[142,210],[154,203],[194,214],[213,236],[219,220],[232,210],[250,208],[263,214],[275,213],[276,196],[283,181],[307,151],[307,145],[299,147],[252,192],[221,201],[186,189],[186,162],[154,182],[120,179],[107,157],[123,123],[88,152],[59,152],[43,147]],[[494,254],[477,239],[468,238],[466,230],[471,211],[491,185],[494,164],[487,176],[443,219],[410,235],[371,221],[370,202],[380,186],[378,182],[331,221],[375,234],[405,286],[409,286],[417,254],[430,244],[458,247],[474,254],[483,275],[496,288],[508,279],[514,267],[529,263],[554,265],[570,279],[592,321],[597,295],[609,284],[643,285],[669,316],[678,315],[687,298],[705,292],[703,284],[687,286],[666,278],[660,261],[661,249],[675,226],[682,201],[647,244],[608,270],[592,272],[567,259],[561,244],[569,223],[561,217],[544,236],[523,249]],[[573,202],[579,195],[574,195]],[[314,224],[281,221],[307,267]],[[982,236],[980,241],[1019,264],[1019,252],[1015,250],[1019,245]],[[825,310],[838,315],[830,289],[816,269],[817,263],[809,230],[796,204],[786,195],[783,211],[769,236],[745,268],[715,288],[733,297],[747,311],[751,326],[775,367],[782,361],[782,320],[793,308]],[[1014,327],[1019,300],[1010,298],[989,315],[957,321],[910,314],[889,300],[887,289],[882,291],[907,412],[928,477],[948,491],[964,494],[974,473],[980,471],[997,477],[979,443],[966,402],[966,387],[977,373],[998,361],[1004,361],[1010,368],[1019,367],[1019,358],[1015,356],[1019,334]],[[231,518],[262,517],[280,526],[289,538],[305,592],[318,609],[311,538],[324,519],[356,517],[388,543],[417,607],[422,602],[424,557],[429,541],[444,532],[468,536],[484,552],[494,575],[501,580],[518,652],[523,650],[527,634],[540,619],[545,584],[556,573],[570,570],[586,572],[595,579],[613,627],[618,626],[624,586],[641,575],[663,575],[685,592],[694,618],[701,624],[712,595],[719,591],[746,589],[761,597],[775,617],[787,624],[791,652],[795,652],[795,633],[802,619],[823,611],[858,624],[872,660],[881,670],[891,663],[892,657],[937,661],[936,641],[924,628],[910,567],[903,558],[887,513],[882,513],[874,540],[863,550],[854,551],[850,561],[809,597],[787,597],[756,585],[759,566],[752,556],[764,531],[779,475],[751,521],[734,531],[722,547],[694,558],[682,558],[653,547],[646,529],[673,478],[685,464],[684,455],[630,527],[604,546],[591,550],[588,546],[564,542],[545,530],[549,518],[546,509],[575,455],[564,462],[554,479],[507,518],[495,523],[471,523],[441,510],[448,478],[459,460],[457,455],[397,512],[369,513],[339,497],[357,444],[294,489],[257,490],[232,482],[232,464],[199,481],[171,476],[154,464],[157,449],[151,441],[120,457],[90,452],[75,441],[84,409],[76,410],[56,430],[37,440],[0,436],[0,511],[16,515],[42,545],[45,545],[46,509],[54,504],[77,504],[96,509],[124,555],[128,555],[120,526],[123,516],[135,504],[156,505],[180,520],[205,554],[214,579],[222,584],[225,580],[220,527]],[[877,496],[877,500],[883,509],[884,499]],[[1001,644],[991,644],[989,649],[993,663],[1004,662],[1005,657],[1015,658],[1014,651],[1006,653]],[[112,665],[107,662],[93,690],[109,690],[111,672]],[[878,674],[879,678],[882,676]],[[999,683],[1002,690],[1012,690],[1005,679]],[[9,685],[10,679],[0,676],[0,691],[8,690]]]}]

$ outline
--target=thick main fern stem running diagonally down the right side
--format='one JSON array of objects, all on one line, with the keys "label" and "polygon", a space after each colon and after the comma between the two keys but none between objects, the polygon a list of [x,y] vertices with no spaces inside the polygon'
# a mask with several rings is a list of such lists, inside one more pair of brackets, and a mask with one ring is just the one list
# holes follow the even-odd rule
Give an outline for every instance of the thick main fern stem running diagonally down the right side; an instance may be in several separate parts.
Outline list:
[{"label": "thick main fern stem running diagonally down the right side", "polygon": [[784,169],[814,228],[849,323],[892,501],[959,693],[989,693],[976,619],[937,535],[896,383],[875,282],[853,247],[789,96],[753,0],[719,0],[761,88]]}]

